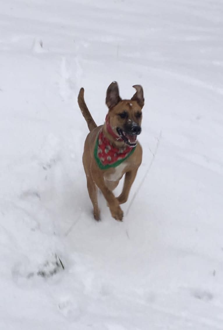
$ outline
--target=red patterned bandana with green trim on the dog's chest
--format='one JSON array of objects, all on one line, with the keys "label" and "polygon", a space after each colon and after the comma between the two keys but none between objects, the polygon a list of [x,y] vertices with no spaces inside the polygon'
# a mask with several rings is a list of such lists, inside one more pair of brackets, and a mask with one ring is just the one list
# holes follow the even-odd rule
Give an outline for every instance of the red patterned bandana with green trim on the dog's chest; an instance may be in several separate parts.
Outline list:
[{"label": "red patterned bandana with green trim on the dog's chest", "polygon": [[[107,119],[107,117],[106,117]],[[99,131],[94,147],[94,158],[101,170],[110,167],[116,167],[126,160],[135,150],[135,147],[126,146],[125,148],[116,148],[105,137],[102,129]]]}]

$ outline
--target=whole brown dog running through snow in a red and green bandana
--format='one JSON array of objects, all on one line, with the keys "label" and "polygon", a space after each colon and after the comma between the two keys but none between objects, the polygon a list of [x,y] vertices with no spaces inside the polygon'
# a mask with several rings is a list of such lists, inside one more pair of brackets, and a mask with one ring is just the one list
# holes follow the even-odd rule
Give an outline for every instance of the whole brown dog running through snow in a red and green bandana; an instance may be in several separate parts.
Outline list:
[{"label": "whole brown dog running through snow in a red and green bandana", "polygon": [[[122,100],[117,82],[112,82],[108,86],[106,94],[108,114],[104,125],[98,127],[84,101],[84,88],[80,89],[78,95],[79,107],[90,130],[85,140],[83,165],[95,220],[100,219],[97,187],[104,195],[113,218],[122,220],[123,211],[119,205],[127,201],[142,161],[142,148],[136,138],[141,133],[144,97],[140,85],[133,87],[136,93],[132,98]],[[116,198],[112,190],[117,187],[124,174],[123,191]]]}]

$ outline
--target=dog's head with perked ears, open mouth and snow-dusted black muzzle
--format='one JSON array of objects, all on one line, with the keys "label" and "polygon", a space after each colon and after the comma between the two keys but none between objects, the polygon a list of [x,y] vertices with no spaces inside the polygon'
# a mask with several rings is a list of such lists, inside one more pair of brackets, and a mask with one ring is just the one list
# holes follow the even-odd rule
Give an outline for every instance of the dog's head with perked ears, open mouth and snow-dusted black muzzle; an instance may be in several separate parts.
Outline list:
[{"label": "dog's head with perked ears, open mouth and snow-dusted black muzzle", "polygon": [[109,123],[113,132],[119,135],[129,146],[136,144],[137,135],[141,133],[142,108],[144,106],[143,89],[140,85],[130,100],[119,96],[117,82],[112,82],[107,89],[106,105],[109,109]]}]

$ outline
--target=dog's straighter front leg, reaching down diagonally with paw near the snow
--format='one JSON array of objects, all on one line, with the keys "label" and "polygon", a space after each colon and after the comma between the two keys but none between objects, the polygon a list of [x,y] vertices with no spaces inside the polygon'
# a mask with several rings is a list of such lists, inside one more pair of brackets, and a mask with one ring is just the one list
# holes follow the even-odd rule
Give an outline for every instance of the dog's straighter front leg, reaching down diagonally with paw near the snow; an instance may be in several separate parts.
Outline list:
[{"label": "dog's straighter front leg, reaching down diagonally with paw near the snow", "polygon": [[119,202],[117,198],[114,196],[111,190],[108,189],[108,187],[105,185],[103,174],[100,172],[92,171],[92,177],[93,181],[96,183],[98,188],[101,190],[102,194],[104,195],[104,198],[106,199],[111,215],[116,220],[122,221],[123,218],[123,211],[119,206]]}]

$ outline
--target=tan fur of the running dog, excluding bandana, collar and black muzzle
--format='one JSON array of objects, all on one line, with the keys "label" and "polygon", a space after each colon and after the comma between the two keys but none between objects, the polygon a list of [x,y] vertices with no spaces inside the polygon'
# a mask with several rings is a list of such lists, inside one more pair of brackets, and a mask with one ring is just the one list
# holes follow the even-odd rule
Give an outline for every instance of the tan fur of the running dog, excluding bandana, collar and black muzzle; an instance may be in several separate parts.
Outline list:
[{"label": "tan fur of the running dog, excluding bandana, collar and black muzzle", "polygon": [[[136,89],[136,93],[130,100],[121,100],[116,82],[111,83],[108,87],[106,104],[109,108],[108,116],[112,128],[116,126],[122,127],[124,125],[125,121],[118,116],[118,114],[123,111],[128,112],[129,119],[134,119],[138,125],[141,125],[141,117],[136,118],[135,114],[141,111],[144,105],[143,91],[142,88],[140,90],[139,87],[141,86],[139,85],[135,85],[133,87]],[[120,168],[117,166],[116,168],[109,168],[107,170],[99,169],[93,153],[97,133],[101,128],[105,136],[115,147],[123,148],[126,144],[124,142],[115,141],[115,139],[107,132],[105,124],[98,127],[96,126],[84,101],[84,88],[81,88],[79,92],[78,104],[90,130],[90,133],[85,140],[83,165],[87,178],[89,196],[93,204],[94,218],[96,220],[100,219],[100,210],[97,202],[97,188],[99,188],[107,201],[111,215],[116,220],[121,221],[123,218],[123,211],[120,208],[120,204],[125,203],[128,199],[131,185],[136,177],[137,170],[142,161],[142,148],[138,142],[130,157],[119,165]],[[122,193],[116,198],[112,190],[118,185],[124,174],[125,181],[123,190]],[[111,180],[112,178],[116,181]]]}]

